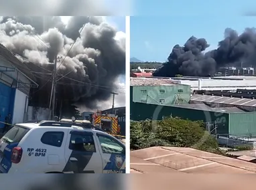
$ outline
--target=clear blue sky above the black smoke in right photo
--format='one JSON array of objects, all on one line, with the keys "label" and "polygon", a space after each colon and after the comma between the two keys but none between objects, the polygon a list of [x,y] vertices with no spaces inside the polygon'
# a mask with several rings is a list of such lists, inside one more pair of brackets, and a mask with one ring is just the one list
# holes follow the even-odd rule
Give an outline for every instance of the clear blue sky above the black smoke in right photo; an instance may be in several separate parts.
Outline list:
[{"label": "clear blue sky above the black smoke in right photo", "polygon": [[166,61],[172,47],[184,45],[192,35],[205,38],[209,50],[218,47],[227,27],[238,33],[256,27],[256,17],[242,16],[135,16],[130,20],[131,57],[142,61]]}]

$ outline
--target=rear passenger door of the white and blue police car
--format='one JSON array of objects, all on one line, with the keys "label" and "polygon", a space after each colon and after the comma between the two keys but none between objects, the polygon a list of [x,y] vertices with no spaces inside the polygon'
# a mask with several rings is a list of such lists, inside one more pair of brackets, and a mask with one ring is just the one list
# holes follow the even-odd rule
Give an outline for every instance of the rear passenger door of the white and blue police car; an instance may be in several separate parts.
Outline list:
[{"label": "rear passenger door of the white and blue police car", "polygon": [[65,158],[64,173],[102,173],[103,160],[90,131],[70,131]]}]

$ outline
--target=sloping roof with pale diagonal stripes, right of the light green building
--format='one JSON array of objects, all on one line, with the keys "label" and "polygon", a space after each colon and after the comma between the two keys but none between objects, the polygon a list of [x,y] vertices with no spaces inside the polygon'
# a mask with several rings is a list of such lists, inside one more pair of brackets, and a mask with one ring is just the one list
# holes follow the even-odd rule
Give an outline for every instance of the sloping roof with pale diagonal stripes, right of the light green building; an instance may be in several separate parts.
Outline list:
[{"label": "sloping roof with pale diagonal stripes, right of the light green building", "polygon": [[256,99],[238,98],[238,97],[220,97],[214,95],[192,95],[191,101],[223,103],[230,105],[256,106]]}]

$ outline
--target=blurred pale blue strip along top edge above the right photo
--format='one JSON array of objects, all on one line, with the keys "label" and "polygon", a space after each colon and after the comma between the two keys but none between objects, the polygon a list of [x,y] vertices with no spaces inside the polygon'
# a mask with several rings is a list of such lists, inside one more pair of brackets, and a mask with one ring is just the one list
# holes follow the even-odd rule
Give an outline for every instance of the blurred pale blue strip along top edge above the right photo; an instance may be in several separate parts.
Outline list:
[{"label": "blurred pale blue strip along top edge above the right photo", "polygon": [[244,15],[255,11],[253,0],[131,0],[133,15]]}]

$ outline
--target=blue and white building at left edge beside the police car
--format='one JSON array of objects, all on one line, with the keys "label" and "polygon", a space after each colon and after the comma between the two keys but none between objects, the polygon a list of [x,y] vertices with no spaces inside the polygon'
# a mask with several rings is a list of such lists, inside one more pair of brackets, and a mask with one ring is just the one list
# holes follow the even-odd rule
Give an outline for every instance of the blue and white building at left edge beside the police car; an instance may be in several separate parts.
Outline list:
[{"label": "blue and white building at left edge beside the police car", "polygon": [[31,73],[23,71],[19,61],[0,44],[0,128],[11,114],[11,124],[22,123],[27,117],[29,91],[38,87]]}]

